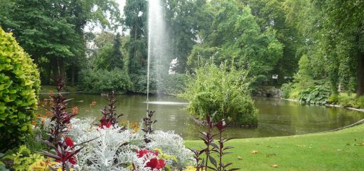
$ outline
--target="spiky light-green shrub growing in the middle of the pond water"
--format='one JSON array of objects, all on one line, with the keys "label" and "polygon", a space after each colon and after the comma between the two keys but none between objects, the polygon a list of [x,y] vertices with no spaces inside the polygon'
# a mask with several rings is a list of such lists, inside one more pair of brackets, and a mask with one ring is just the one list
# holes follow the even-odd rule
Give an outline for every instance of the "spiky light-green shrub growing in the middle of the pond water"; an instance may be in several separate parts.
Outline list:
[{"label": "spiky light-green shrub growing in the middle of the pond water", "polygon": [[190,101],[187,109],[198,119],[214,114],[215,121],[225,119],[234,124],[258,123],[257,111],[251,100],[251,81],[246,73],[232,68],[208,64],[198,68],[181,97]]}]

